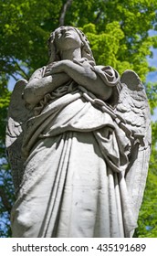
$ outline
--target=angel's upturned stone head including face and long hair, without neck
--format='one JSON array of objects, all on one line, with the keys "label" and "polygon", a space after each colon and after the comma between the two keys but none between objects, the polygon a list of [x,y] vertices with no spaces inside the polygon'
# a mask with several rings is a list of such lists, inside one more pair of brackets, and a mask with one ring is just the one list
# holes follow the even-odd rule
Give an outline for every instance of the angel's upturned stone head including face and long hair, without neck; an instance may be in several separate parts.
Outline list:
[{"label": "angel's upturned stone head including face and long hair, without neck", "polygon": [[80,48],[81,58],[89,59],[95,63],[91,49],[89,47],[89,40],[76,27],[58,27],[50,34],[47,41],[49,62],[58,61],[61,59],[61,51],[68,47]]}]

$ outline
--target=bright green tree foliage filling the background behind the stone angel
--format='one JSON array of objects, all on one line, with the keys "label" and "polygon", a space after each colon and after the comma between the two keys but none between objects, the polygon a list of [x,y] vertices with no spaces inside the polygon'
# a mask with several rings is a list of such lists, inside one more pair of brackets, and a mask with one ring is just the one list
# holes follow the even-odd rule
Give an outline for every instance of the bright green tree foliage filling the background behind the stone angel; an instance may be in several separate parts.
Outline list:
[{"label": "bright green tree foliage filling the background behind the stone angel", "polygon": [[[157,83],[146,83],[157,37],[156,0],[1,0],[0,2],[0,237],[10,237],[9,214],[14,201],[5,155],[5,123],[10,99],[8,80],[28,79],[47,64],[47,38],[61,25],[78,27],[88,36],[97,64],[120,74],[133,69],[141,77],[153,110]],[[152,123],[152,156],[136,237],[157,237],[157,123]]]}]

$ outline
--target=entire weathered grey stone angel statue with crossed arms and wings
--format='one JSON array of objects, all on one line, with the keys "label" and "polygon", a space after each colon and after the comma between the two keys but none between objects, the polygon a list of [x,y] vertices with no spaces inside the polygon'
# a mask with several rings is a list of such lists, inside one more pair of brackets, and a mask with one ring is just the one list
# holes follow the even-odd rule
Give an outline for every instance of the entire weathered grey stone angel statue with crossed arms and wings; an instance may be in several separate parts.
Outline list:
[{"label": "entire weathered grey stone angel statue with crossed arms and wings", "polygon": [[144,87],[131,70],[96,65],[76,27],[58,27],[48,48],[8,111],[13,237],[129,238],[151,151]]}]

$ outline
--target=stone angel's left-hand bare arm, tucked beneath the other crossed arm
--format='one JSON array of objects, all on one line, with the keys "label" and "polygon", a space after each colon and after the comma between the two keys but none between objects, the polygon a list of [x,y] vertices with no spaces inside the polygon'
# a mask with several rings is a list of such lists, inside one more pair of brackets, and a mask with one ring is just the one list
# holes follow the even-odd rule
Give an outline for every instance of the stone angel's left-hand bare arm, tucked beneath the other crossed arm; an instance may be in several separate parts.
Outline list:
[{"label": "stone angel's left-hand bare arm, tucked beneath the other crossed arm", "polygon": [[37,78],[30,80],[24,91],[24,100],[26,103],[35,106],[44,95],[48,92],[54,91],[60,85],[69,80],[66,73],[58,73],[53,76]]}]

